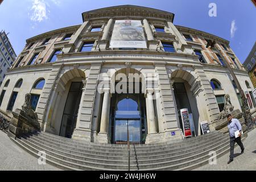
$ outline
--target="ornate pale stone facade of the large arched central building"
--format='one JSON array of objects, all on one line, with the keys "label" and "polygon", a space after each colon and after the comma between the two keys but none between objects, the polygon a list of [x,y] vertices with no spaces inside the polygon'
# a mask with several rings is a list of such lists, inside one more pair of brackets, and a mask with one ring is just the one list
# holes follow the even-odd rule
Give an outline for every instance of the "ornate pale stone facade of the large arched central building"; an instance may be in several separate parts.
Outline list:
[{"label": "ornate pale stone facade of the large arched central building", "polygon": [[[3,112],[20,109],[30,93],[48,133],[123,144],[129,131],[133,143],[159,143],[184,137],[182,109],[196,136],[200,122],[214,130],[225,94],[241,110],[224,59],[242,88],[253,90],[227,40],[175,26],[172,13],[125,5],[88,11],[82,19],[27,40],[1,86]],[[219,51],[207,48],[209,40]]]}]

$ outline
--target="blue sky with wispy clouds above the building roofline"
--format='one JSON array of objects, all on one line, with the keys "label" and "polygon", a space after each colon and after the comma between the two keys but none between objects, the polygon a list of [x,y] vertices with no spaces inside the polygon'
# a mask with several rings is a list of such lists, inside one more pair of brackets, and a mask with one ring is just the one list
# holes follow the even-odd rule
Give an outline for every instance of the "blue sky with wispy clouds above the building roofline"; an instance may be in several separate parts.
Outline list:
[{"label": "blue sky with wispy clouds above the building roofline", "polygon": [[[217,17],[209,16],[209,3],[216,3]],[[81,13],[85,11],[117,5],[146,6],[174,13],[174,24],[229,40],[242,63],[256,40],[256,7],[250,0],[4,0],[0,5],[0,30],[10,32],[18,55],[26,39],[81,24]]]}]

